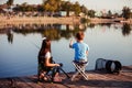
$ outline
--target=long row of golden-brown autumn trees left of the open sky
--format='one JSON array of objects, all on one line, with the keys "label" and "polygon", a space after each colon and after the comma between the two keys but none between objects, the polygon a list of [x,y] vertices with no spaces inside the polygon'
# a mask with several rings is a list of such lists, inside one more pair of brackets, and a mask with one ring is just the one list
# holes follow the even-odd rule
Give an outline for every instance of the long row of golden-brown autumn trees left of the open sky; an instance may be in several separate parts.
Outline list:
[{"label": "long row of golden-brown autumn trees left of the open sky", "polygon": [[[7,1],[7,4],[11,6],[13,4],[13,0]],[[26,2],[22,4],[16,4],[15,8],[13,8],[14,11],[47,11],[47,12],[58,12],[58,11],[74,11],[76,15],[78,15],[80,12],[88,13],[88,9],[85,6],[80,6],[79,2],[72,3],[69,1],[63,1],[63,0],[46,0],[43,1],[42,4],[32,6],[28,4]],[[68,14],[67,14],[68,15]]]}]

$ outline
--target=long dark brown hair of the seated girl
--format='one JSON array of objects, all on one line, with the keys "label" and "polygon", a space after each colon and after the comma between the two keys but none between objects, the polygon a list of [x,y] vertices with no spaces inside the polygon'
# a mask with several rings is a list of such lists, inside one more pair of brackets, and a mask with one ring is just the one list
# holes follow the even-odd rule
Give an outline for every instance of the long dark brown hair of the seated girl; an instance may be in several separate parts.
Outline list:
[{"label": "long dark brown hair of the seated girl", "polygon": [[47,52],[51,52],[51,40],[46,38],[46,40],[43,40],[43,43],[42,43],[42,47],[38,52],[38,58],[41,56],[45,56],[45,54]]}]

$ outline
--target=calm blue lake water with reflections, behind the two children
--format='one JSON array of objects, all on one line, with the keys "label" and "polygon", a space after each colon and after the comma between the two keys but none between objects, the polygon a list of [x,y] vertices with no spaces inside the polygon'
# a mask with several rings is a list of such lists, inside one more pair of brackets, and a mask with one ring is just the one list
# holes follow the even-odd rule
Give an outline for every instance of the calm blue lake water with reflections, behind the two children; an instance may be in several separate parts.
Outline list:
[{"label": "calm blue lake water with reflections, behind the two children", "polygon": [[52,55],[64,64],[65,72],[74,72],[74,50],[69,40],[85,32],[89,45],[87,70],[95,69],[97,58],[120,61],[132,65],[132,25],[129,24],[22,24],[0,30],[0,78],[37,74],[37,54],[42,37],[52,38]]}]

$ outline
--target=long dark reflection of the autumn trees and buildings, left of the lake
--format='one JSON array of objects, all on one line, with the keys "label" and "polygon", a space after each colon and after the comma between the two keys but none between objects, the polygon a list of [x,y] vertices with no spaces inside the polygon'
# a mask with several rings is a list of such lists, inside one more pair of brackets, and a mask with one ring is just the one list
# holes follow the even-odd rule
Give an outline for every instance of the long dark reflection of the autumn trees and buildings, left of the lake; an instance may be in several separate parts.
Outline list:
[{"label": "long dark reflection of the autumn trees and buildings, left of the lake", "polygon": [[[11,25],[10,25],[11,26]],[[30,33],[40,33],[43,36],[50,37],[52,41],[54,40],[61,40],[61,37],[69,38],[72,35],[75,35],[76,32],[79,30],[85,31],[86,25],[65,25],[65,24],[19,24],[19,25],[12,25],[12,28],[7,29],[4,31],[1,31],[2,33],[7,33],[9,43],[13,42],[13,34],[14,33],[21,33],[23,35],[30,34]]]}]

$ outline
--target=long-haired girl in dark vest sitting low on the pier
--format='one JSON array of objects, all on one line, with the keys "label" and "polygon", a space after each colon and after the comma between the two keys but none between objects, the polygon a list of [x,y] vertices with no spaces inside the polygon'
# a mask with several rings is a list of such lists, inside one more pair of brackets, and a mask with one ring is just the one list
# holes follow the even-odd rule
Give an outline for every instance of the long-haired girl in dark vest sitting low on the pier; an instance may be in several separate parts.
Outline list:
[{"label": "long-haired girl in dark vest sitting low on the pier", "polygon": [[59,64],[53,63],[51,55],[51,41],[43,40],[42,47],[38,53],[38,80],[48,80],[46,75],[52,72],[52,81],[61,81],[56,78],[59,73]]}]

